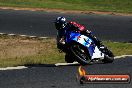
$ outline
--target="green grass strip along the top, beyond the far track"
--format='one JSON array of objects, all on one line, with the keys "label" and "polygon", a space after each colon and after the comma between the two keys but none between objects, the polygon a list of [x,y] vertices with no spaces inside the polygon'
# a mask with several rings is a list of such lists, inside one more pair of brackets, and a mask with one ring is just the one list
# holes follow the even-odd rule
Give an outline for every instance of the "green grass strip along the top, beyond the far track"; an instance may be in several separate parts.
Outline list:
[{"label": "green grass strip along the top, beyond the far track", "polygon": [[0,6],[132,13],[131,0],[0,0]]}]

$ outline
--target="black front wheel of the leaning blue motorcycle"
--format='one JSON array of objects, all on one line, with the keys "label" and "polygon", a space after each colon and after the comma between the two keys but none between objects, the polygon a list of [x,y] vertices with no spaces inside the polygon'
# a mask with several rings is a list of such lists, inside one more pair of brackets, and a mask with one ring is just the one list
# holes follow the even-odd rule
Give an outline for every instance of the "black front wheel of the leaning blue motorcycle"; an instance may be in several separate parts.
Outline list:
[{"label": "black front wheel of the leaning blue motorcycle", "polygon": [[71,52],[76,57],[76,61],[81,65],[90,64],[91,58],[87,48],[79,43],[73,43],[70,47]]}]

